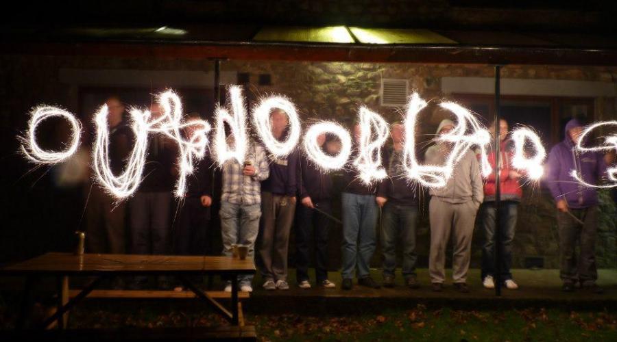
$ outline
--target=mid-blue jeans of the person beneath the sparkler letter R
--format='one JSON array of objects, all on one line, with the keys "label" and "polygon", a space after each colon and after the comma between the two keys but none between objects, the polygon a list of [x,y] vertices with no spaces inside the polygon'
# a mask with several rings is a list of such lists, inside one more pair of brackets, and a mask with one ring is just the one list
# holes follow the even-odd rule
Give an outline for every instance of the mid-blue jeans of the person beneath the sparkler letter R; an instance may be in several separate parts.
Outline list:
[{"label": "mid-blue jeans of the person beneath the sparkler letter R", "polygon": [[343,279],[354,277],[356,265],[358,278],[370,276],[369,265],[375,252],[377,203],[373,195],[356,195],[343,192]]}]

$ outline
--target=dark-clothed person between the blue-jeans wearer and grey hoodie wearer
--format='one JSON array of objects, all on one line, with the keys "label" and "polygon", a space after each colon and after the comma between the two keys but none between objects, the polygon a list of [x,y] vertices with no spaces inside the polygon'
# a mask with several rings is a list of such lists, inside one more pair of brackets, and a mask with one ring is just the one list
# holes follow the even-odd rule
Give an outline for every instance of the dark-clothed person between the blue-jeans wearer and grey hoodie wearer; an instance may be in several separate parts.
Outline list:
[{"label": "dark-clothed person between the blue-jeans wearer and grey hoodie wearer", "polygon": [[404,178],[404,128],[400,122],[390,126],[392,148],[387,164],[388,178],[381,183],[380,193],[387,198],[383,207],[381,248],[383,251],[383,286],[394,287],[396,243],[403,249],[402,276],[405,284],[417,289],[420,284],[415,274],[415,226],[418,220],[418,183]]}]

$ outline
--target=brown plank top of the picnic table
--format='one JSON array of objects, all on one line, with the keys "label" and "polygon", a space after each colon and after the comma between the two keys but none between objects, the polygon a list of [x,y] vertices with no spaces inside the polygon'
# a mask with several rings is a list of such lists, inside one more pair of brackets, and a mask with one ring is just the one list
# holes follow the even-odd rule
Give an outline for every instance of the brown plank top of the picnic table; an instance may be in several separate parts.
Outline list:
[{"label": "brown plank top of the picnic table", "polygon": [[49,252],[0,269],[19,274],[254,274],[252,260],[232,257]]}]

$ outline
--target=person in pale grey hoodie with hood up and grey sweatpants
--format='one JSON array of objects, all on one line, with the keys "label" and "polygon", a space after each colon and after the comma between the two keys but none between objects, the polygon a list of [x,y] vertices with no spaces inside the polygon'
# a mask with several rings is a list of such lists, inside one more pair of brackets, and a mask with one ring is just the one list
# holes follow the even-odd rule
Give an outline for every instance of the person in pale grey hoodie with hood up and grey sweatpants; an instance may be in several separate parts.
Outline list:
[{"label": "person in pale grey hoodie with hood up and grey sweatpants", "polygon": [[[437,135],[452,131],[452,120],[442,120],[437,128]],[[438,142],[426,150],[426,163],[443,165],[452,150],[447,142]],[[469,269],[472,235],[476,213],[484,198],[480,164],[471,149],[463,152],[460,161],[455,164],[452,177],[446,186],[431,189],[431,202],[428,206],[431,220],[431,250],[428,257],[428,269],[433,291],[441,291],[446,278],[446,246],[452,234],[452,280],[455,288],[469,292],[467,271]]]}]

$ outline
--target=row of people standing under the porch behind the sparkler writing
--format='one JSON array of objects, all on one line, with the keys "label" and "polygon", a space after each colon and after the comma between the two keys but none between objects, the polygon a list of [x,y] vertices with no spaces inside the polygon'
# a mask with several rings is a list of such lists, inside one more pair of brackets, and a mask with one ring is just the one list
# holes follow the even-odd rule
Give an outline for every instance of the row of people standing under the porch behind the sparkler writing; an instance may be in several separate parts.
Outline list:
[{"label": "row of people standing under the porch behind the sparkler writing", "polygon": [[[110,109],[110,155],[112,170],[120,172],[122,161],[128,155],[132,133],[123,120],[124,107],[119,98],[107,101]],[[160,110],[153,106],[153,115]],[[285,111],[275,109],[270,114],[271,133],[284,140],[289,128]],[[455,127],[451,120],[442,120],[436,135],[448,133]],[[390,126],[391,144],[381,153],[388,177],[378,183],[361,181],[358,171],[351,166],[344,169],[341,194],[343,242],[341,277],[342,289],[357,285],[379,288],[395,286],[396,245],[402,245],[402,277],[411,288],[420,287],[415,267],[416,226],[420,199],[424,194],[418,184],[401,175],[404,127],[400,122]],[[354,145],[358,146],[361,127],[353,127]],[[500,244],[500,279],[507,289],[517,289],[511,267],[511,245],[517,220],[517,208],[522,191],[522,172],[511,168],[512,150],[507,139],[508,125],[500,122],[500,154],[489,153],[488,160],[500,172],[500,225],[496,237],[494,173],[483,179],[479,155],[468,150],[455,164],[452,177],[445,187],[429,189],[429,219],[431,246],[429,274],[431,289],[443,291],[446,246],[452,237],[452,282],[457,291],[469,291],[467,285],[472,235],[476,215],[481,215],[483,286],[495,286],[495,245]],[[190,134],[190,132],[185,132]],[[573,291],[575,285],[601,292],[595,284],[594,237],[597,226],[597,195],[594,189],[574,185],[570,170],[577,170],[590,183],[605,173],[603,155],[578,154],[574,144],[581,134],[576,120],[566,125],[566,140],[551,150],[546,172],[546,183],[555,197],[558,209],[561,278],[564,290]],[[320,135],[317,142],[324,153],[336,154],[340,142],[335,136]],[[233,136],[228,137],[232,146]],[[441,165],[446,161],[452,145],[437,142],[424,153],[424,162]],[[357,150],[357,148],[354,148]],[[206,156],[197,172],[190,177],[187,192],[171,226],[173,180],[177,174],[176,149],[165,137],[149,137],[149,153],[144,179],[128,203],[114,203],[112,198],[93,187],[88,202],[88,231],[86,241],[90,252],[132,254],[204,254],[206,232],[213,205],[213,174],[215,166]],[[350,160],[354,159],[354,155]],[[247,257],[255,258],[266,290],[289,289],[288,254],[291,228],[295,228],[296,282],[302,289],[311,288],[309,260],[315,246],[315,284],[326,289],[335,288],[328,279],[328,231],[332,225],[334,197],[330,175],[311,163],[300,151],[287,157],[271,157],[263,145],[252,140],[248,144],[245,162],[230,159],[220,168],[222,189],[219,218],[223,255],[232,255],[234,245],[248,248]],[[94,189],[97,188],[97,189]],[[125,245],[123,218],[128,211],[130,246]],[[295,221],[295,225],[294,225]],[[380,221],[380,222],[378,222]],[[379,223],[379,224],[378,224]],[[370,275],[370,261],[376,250],[377,229],[380,226],[380,244],[383,251],[383,280],[377,282]],[[173,235],[173,238],[172,238]],[[581,241],[581,253],[575,257],[574,247]],[[241,291],[252,291],[252,276],[239,278]],[[131,282],[130,288],[143,287],[145,279]],[[117,284],[123,287],[123,284]],[[173,287],[171,280],[158,280],[161,288]],[[226,291],[231,291],[230,282]]]}]

